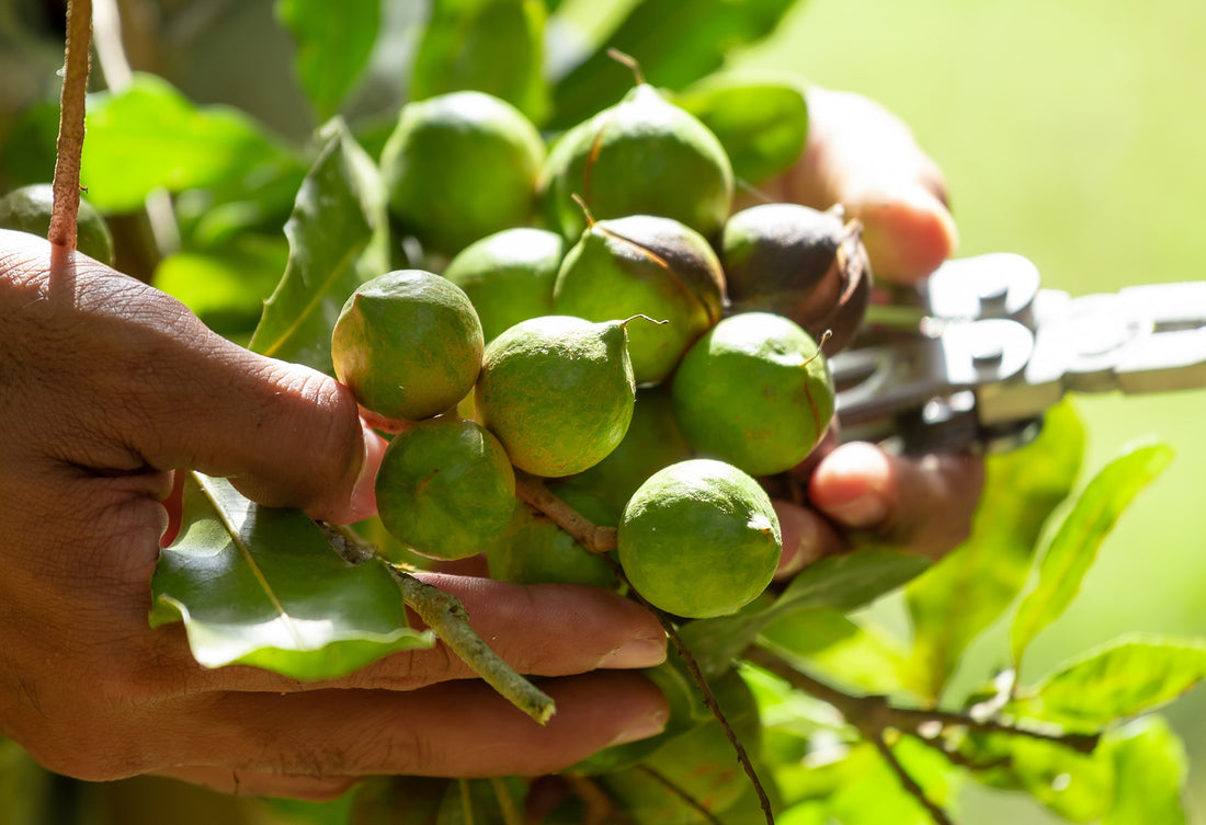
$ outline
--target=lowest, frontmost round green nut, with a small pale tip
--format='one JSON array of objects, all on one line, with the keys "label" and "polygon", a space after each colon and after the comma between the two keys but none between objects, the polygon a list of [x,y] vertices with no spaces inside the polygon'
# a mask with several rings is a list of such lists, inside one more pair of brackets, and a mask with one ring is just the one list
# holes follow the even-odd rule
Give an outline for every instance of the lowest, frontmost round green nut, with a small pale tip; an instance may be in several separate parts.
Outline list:
[{"label": "lowest, frontmost round green nut, with a small pale tip", "polygon": [[726,615],[771,583],[783,552],[766,491],[732,465],[689,459],[660,470],[630,499],[616,532],[637,593],[675,615]]}]

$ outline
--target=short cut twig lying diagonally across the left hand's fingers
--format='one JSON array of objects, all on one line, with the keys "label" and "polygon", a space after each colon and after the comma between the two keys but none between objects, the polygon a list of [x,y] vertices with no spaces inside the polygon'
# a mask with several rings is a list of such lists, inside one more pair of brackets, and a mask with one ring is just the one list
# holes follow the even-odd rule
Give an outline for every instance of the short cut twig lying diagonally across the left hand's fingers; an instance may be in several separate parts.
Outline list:
[{"label": "short cut twig lying diagonally across the left hand's fingers", "polygon": [[380,559],[398,582],[406,606],[415,611],[423,624],[431,627],[440,641],[469,665],[486,684],[539,724],[544,725],[552,718],[556,712],[552,699],[520,676],[486,644],[469,624],[469,612],[459,599],[421,582],[391,562],[351,528],[322,526],[332,548],[349,561],[356,564],[371,558]]}]

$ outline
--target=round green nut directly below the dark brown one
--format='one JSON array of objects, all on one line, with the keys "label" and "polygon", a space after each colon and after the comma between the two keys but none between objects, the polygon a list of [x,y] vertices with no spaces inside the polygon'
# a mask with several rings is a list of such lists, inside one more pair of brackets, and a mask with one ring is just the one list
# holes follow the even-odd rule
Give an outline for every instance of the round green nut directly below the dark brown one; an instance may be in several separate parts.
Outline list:
[{"label": "round green nut directly below the dark brown one", "polygon": [[833,417],[833,377],[791,320],[744,312],[716,324],[683,358],[674,416],[697,452],[751,476],[800,464]]}]

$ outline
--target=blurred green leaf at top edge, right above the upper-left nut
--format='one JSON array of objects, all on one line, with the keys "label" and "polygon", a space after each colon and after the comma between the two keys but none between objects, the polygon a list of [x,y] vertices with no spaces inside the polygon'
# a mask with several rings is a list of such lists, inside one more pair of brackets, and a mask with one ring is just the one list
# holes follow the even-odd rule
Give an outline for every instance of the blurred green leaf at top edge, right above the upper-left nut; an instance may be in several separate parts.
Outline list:
[{"label": "blurred green leaf at top edge, right above the upper-left nut", "polygon": [[410,75],[422,100],[475,89],[502,98],[533,123],[549,113],[541,0],[433,0]]}]

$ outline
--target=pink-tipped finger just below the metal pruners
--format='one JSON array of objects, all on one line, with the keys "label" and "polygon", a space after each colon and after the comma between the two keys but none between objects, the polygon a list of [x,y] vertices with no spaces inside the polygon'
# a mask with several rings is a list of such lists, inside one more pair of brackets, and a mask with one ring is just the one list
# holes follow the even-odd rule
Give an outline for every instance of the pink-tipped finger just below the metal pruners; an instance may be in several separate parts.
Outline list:
[{"label": "pink-tipped finger just below the metal pruners", "polygon": [[970,534],[983,483],[984,465],[976,456],[902,458],[851,442],[821,460],[808,495],[856,543],[938,559]]}]

